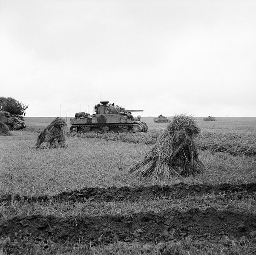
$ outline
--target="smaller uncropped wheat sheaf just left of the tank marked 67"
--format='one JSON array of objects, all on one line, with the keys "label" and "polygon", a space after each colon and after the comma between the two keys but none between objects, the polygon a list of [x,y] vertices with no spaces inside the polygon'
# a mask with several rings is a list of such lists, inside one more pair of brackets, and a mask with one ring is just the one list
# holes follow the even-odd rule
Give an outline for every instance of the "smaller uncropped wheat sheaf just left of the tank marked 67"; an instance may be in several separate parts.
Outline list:
[{"label": "smaller uncropped wheat sheaf just left of the tank marked 67", "polygon": [[66,122],[56,118],[37,137],[35,147],[37,149],[63,148],[68,147],[65,135]]}]

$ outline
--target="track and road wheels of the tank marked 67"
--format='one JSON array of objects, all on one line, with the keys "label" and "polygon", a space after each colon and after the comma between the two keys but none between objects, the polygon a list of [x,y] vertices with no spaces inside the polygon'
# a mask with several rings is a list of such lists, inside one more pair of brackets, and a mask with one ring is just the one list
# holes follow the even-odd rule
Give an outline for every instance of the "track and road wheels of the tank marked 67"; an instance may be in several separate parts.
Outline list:
[{"label": "track and road wheels of the tank marked 67", "polygon": [[78,133],[138,133],[147,132],[147,128],[142,123],[135,122],[129,124],[72,124],[70,132]]}]

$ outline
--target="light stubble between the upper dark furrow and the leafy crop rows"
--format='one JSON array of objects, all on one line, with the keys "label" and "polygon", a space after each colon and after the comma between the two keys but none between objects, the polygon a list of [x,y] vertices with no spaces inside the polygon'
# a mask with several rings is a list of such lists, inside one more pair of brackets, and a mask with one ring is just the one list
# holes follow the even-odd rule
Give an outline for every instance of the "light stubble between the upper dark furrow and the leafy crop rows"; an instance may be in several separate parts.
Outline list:
[{"label": "light stubble between the upper dark furrow and the leafy crop rows", "polygon": [[[1,193],[55,195],[83,187],[121,187],[184,183],[250,183],[256,178],[253,157],[201,151],[205,170],[195,176],[152,180],[135,177],[129,167],[143,158],[152,145],[69,137],[69,147],[36,150],[36,134],[13,131],[2,137]],[[14,139],[13,139],[14,138]]]}]

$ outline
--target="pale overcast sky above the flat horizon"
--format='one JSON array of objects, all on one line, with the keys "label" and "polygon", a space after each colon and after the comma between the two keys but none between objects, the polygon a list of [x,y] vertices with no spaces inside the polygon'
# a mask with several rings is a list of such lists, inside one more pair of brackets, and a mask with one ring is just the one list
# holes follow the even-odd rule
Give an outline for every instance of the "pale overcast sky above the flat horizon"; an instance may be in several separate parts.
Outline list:
[{"label": "pale overcast sky above the flat horizon", "polygon": [[256,116],[256,1],[0,0],[0,96],[27,117]]}]

